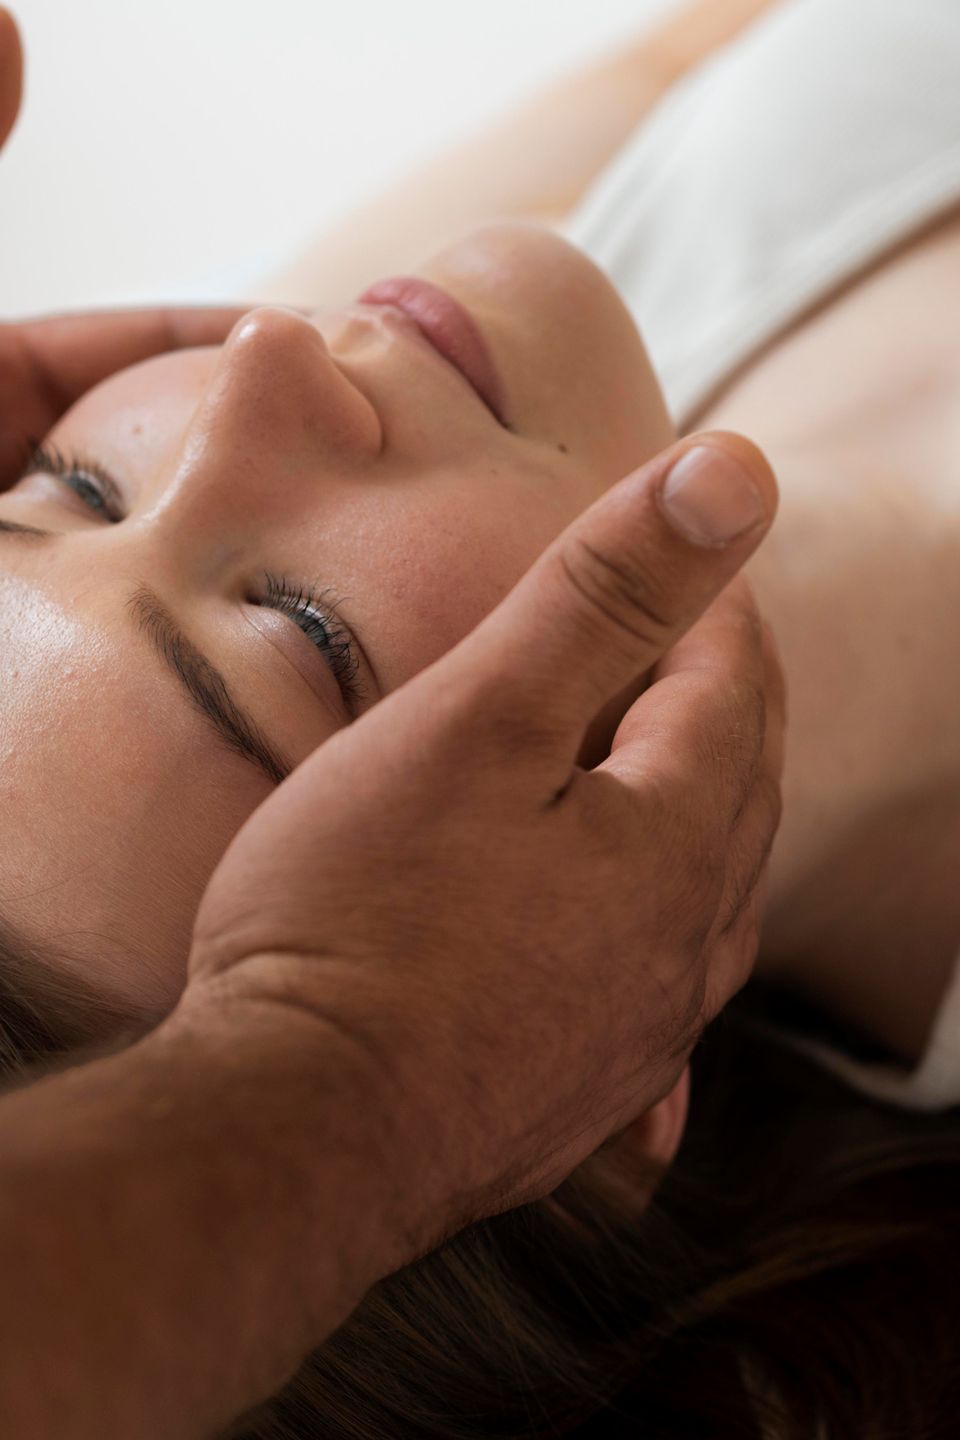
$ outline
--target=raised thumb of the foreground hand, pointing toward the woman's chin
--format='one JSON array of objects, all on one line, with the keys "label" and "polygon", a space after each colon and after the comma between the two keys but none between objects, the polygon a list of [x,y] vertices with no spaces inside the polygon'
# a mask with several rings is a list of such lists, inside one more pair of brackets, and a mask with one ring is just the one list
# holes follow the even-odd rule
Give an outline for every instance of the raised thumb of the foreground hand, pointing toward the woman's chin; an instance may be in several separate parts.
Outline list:
[{"label": "raised thumb of the foreground hand, pointing toward the woman's chin", "polygon": [[[495,677],[511,736],[573,762],[583,733],[702,615],[757,549],[777,508],[760,451],[688,436],[628,475],[540,556],[448,657]],[[456,657],[456,660],[455,660]],[[475,693],[475,687],[474,687]]]}]

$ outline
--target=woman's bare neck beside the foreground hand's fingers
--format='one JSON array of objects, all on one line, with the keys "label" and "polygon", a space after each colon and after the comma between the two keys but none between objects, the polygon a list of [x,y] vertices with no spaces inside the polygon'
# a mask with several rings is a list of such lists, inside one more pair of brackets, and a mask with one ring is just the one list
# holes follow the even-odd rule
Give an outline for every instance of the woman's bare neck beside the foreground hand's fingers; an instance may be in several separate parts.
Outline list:
[{"label": "woman's bare neck beside the foreground hand's fingers", "polygon": [[782,511],[747,573],[790,719],[757,973],[917,1060],[960,937],[960,694],[931,626],[959,588],[905,526],[902,475],[836,448],[771,459]]}]

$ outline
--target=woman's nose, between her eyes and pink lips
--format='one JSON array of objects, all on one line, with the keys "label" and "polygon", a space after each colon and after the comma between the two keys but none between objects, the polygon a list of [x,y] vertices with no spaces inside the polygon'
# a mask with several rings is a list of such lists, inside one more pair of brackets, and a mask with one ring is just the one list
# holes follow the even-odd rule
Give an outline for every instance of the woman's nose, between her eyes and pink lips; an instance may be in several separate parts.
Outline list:
[{"label": "woman's nose, between her eyes and pink lips", "polygon": [[370,400],[334,363],[317,328],[292,310],[265,305],[237,321],[183,435],[153,507],[154,533],[178,541],[236,531],[266,516],[295,521],[324,482],[380,454]]}]

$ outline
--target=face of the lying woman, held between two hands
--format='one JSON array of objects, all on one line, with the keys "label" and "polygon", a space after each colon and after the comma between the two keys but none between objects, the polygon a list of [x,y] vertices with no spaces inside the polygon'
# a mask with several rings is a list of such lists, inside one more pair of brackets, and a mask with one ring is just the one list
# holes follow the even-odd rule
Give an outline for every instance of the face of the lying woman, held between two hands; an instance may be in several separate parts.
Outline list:
[{"label": "face of the lying woman, held between two hands", "polygon": [[278,778],[672,438],[629,314],[556,235],[485,228],[419,274],[481,327],[510,428],[394,311],[261,308],[92,390],[49,436],[83,474],[0,497],[46,531],[0,531],[0,910],[157,1018]]}]

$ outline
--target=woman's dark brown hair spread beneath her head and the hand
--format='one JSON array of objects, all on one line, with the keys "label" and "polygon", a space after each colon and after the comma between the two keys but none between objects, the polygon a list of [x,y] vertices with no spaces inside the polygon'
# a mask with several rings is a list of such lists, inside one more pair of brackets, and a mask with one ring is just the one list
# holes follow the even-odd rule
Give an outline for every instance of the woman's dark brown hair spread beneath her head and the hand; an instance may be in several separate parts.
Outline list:
[{"label": "woman's dark brown hair spread beneath her head and the hand", "polygon": [[[381,1280],[230,1440],[956,1440],[960,1107],[855,1094],[770,1037],[784,1009],[826,1024],[754,982],[702,1038],[649,1204],[607,1142]],[[144,1028],[0,958],[7,1089]]]}]

